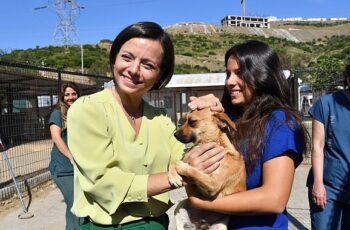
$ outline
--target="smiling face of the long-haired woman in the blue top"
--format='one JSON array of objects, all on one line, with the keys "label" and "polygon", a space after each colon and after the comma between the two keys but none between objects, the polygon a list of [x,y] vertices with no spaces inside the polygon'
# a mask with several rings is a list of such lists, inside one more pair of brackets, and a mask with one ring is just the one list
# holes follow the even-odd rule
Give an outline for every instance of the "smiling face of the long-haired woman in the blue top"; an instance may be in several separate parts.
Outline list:
[{"label": "smiling face of the long-haired woman in the blue top", "polygon": [[252,100],[253,89],[241,78],[239,65],[233,56],[227,61],[225,85],[233,105],[244,106]]}]

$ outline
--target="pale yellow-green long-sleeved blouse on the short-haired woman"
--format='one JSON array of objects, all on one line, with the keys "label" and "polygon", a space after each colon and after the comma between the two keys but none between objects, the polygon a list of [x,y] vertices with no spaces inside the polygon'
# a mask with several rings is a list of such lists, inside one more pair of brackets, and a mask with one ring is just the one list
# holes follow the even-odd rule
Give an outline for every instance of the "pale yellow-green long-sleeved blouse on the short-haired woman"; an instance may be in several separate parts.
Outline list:
[{"label": "pale yellow-green long-sleeved blouse on the short-haired woman", "polygon": [[67,119],[76,161],[72,212],[106,225],[165,213],[172,205],[169,194],[147,197],[147,181],[182,158],[185,147],[174,129],[164,109],[143,101],[137,136],[108,89],[74,102]]}]

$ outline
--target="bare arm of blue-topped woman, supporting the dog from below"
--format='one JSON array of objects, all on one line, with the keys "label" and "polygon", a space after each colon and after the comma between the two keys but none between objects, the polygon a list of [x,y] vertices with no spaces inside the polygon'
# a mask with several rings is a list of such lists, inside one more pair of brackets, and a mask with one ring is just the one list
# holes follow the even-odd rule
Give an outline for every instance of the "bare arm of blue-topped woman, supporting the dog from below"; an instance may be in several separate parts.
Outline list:
[{"label": "bare arm of blue-topped woman, supporting the dog from below", "polygon": [[228,214],[281,213],[285,209],[294,179],[292,153],[285,153],[263,164],[262,186],[213,201],[189,192],[193,206]]}]

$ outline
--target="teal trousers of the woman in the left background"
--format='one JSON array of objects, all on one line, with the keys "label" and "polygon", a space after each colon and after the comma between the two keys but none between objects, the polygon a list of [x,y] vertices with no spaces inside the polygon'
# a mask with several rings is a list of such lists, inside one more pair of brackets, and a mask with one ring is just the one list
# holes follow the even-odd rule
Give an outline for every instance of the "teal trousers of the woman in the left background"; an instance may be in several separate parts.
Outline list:
[{"label": "teal trousers of the woman in the left background", "polygon": [[61,190],[61,193],[66,203],[66,230],[77,230],[79,229],[79,218],[74,216],[70,211],[73,205],[74,195],[74,183],[73,175],[71,176],[57,176],[52,175],[53,180],[56,182],[57,187]]}]

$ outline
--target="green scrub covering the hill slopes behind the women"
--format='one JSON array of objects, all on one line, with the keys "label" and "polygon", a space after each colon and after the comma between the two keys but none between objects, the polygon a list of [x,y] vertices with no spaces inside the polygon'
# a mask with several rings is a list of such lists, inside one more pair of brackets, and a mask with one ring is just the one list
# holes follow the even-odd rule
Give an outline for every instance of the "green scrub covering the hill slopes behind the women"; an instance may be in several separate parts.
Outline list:
[{"label": "green scrub covering the hill slopes behind the women", "polygon": [[[208,73],[224,71],[224,55],[228,48],[248,39],[256,39],[271,45],[278,53],[284,69],[317,67],[337,60],[340,65],[350,62],[350,36],[331,36],[296,43],[276,37],[263,37],[238,33],[171,34],[176,55],[176,74]],[[84,69],[87,73],[110,75],[108,53],[112,41],[101,40],[99,45],[83,46]],[[14,50],[10,53],[0,50],[0,60],[12,60],[33,65],[80,70],[80,46],[36,47],[28,50]],[[324,63],[324,64],[322,64]],[[306,78],[308,81],[309,78]],[[313,76],[310,81],[316,81]],[[319,81],[319,80],[318,80]]]}]

